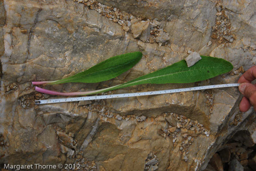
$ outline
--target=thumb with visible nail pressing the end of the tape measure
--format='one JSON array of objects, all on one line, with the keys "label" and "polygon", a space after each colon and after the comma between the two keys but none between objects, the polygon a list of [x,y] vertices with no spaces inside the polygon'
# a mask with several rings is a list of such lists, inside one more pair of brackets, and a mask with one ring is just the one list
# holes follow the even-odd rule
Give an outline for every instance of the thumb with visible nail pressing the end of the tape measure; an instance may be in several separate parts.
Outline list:
[{"label": "thumb with visible nail pressing the end of the tape measure", "polygon": [[256,86],[251,83],[241,83],[239,85],[239,91],[249,99],[250,104],[256,109]]}]

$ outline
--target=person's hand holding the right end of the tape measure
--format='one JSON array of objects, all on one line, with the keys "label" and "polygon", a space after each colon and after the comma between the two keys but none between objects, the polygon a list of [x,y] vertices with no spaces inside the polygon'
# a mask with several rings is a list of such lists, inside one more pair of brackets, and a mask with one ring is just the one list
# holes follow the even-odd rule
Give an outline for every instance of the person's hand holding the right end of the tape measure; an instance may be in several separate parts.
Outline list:
[{"label": "person's hand holding the right end of the tape measure", "polygon": [[247,70],[238,79],[239,91],[244,95],[240,102],[241,112],[247,112],[251,106],[256,110],[256,86],[251,82],[256,79],[256,65]]}]

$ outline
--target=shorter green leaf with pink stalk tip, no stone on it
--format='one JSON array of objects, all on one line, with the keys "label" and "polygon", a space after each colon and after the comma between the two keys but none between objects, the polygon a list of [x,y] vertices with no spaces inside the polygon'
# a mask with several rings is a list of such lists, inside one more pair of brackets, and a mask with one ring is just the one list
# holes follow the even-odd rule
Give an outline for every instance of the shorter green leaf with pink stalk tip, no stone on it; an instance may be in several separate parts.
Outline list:
[{"label": "shorter green leaf with pink stalk tip, no stone on it", "polygon": [[45,82],[32,82],[34,85],[48,83],[48,84],[60,84],[67,82],[84,82],[95,83],[106,81],[117,77],[125,71],[131,69],[142,58],[141,52],[133,52],[123,55],[118,55],[109,58],[97,65],[75,74],[71,77],[64,78],[58,81],[45,81]]}]

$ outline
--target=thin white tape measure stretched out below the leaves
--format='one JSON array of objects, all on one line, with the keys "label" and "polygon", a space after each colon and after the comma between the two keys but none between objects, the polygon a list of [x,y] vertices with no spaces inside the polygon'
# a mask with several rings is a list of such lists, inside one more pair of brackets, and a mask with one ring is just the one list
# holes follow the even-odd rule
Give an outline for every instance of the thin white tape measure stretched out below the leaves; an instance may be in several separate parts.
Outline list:
[{"label": "thin white tape measure stretched out below the leaves", "polygon": [[84,96],[84,97],[36,100],[35,104],[38,105],[38,104],[49,104],[49,103],[72,102],[72,101],[100,100],[100,99],[108,99],[108,98],[149,96],[149,95],[156,95],[156,94],[189,92],[189,91],[195,91],[195,90],[216,89],[216,88],[224,88],[224,87],[237,87],[239,85],[240,85],[239,83],[230,83],[230,84],[207,85],[207,86],[190,87],[190,88],[182,88],[182,89],[172,89],[172,90],[159,90],[159,91],[153,91],[153,92],[138,92],[138,93],[110,94],[110,95],[101,95],[101,96]]}]

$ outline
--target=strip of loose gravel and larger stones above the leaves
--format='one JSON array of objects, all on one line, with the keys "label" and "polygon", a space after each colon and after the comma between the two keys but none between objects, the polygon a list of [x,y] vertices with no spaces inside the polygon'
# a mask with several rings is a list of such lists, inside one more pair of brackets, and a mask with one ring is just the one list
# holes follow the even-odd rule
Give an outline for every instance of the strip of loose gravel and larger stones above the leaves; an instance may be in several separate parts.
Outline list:
[{"label": "strip of loose gravel and larger stones above the leaves", "polygon": [[[143,42],[154,43],[157,42],[159,46],[166,45],[170,37],[166,31],[161,28],[161,23],[158,22],[158,19],[149,20],[135,18],[133,15],[121,11],[120,9],[113,8],[101,3],[98,3],[96,0],[74,0],[78,3],[83,3],[89,9],[96,10],[102,16],[107,17],[109,20],[118,23],[120,26],[123,26],[123,30],[126,32],[131,32],[133,38],[139,38]],[[147,23],[147,26],[136,27],[136,24],[141,25],[142,23]],[[133,26],[135,25],[135,26]],[[138,26],[137,25],[137,26]]]}]

